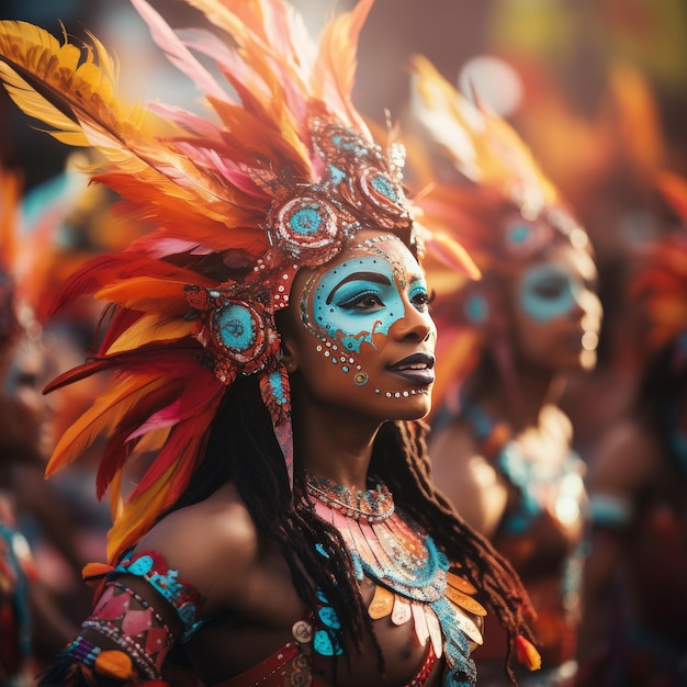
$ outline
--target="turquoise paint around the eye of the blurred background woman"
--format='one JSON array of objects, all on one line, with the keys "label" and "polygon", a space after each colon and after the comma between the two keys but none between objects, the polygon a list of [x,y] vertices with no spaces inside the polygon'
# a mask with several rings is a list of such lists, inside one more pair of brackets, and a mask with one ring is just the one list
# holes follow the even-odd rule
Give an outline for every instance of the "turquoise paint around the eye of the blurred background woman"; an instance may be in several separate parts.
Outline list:
[{"label": "turquoise paint around the eye of the blurred background woman", "polygon": [[572,313],[586,285],[566,268],[556,263],[530,268],[520,282],[520,303],[539,322],[549,322]]}]

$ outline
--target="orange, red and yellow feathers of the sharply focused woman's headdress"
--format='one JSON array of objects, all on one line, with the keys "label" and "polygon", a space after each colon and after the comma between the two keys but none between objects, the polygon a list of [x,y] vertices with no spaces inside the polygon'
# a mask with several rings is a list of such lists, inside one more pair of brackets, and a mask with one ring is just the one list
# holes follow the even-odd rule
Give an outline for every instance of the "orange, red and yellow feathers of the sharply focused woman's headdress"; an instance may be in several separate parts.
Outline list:
[{"label": "orange, red and yellow feathers of the sharply focused woman's headdress", "polygon": [[[322,182],[314,114],[373,143],[351,103],[358,37],[372,1],[333,18],[313,40],[285,0],[185,0],[203,20],[191,30],[172,29],[146,0],[132,0],[165,56],[199,89],[203,115],[127,103],[115,59],[90,34],[78,46],[66,34],[60,41],[25,22],[0,21],[0,79],[13,101],[55,138],[98,149],[103,161],[93,181],[122,198],[120,213],[155,226],[128,249],[83,264],[54,305],[85,294],[110,304],[92,359],[47,390],[100,372],[117,384],[63,436],[48,465],[53,473],[108,438],[98,492],[111,489],[111,559],[183,492],[226,388],[199,364],[206,349],[187,289],[218,293],[240,284],[271,249],[266,218],[273,204]],[[280,279],[286,270],[293,278],[291,264],[279,267]],[[261,390],[263,397],[273,392],[263,379]],[[288,452],[288,415],[279,404],[270,412]],[[149,450],[148,471],[124,498],[123,473]]]}]

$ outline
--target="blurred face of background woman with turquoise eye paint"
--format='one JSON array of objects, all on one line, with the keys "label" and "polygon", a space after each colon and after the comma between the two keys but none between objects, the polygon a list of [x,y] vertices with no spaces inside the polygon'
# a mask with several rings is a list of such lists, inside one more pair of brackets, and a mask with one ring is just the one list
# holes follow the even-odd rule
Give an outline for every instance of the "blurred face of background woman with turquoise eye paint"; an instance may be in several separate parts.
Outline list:
[{"label": "blurred face of background woman with turquoise eye paint", "polygon": [[516,353],[552,371],[592,369],[601,326],[590,256],[560,246],[515,280]]}]

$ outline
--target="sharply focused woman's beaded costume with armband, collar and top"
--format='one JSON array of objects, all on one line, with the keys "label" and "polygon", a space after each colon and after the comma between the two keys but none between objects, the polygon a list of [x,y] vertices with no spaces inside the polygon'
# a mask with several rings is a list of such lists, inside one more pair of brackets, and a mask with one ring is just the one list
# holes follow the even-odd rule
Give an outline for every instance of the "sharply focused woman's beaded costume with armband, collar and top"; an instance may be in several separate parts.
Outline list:
[{"label": "sharply focused woman's beaded costume with armband, collar and top", "polygon": [[[349,492],[329,481],[312,478],[308,484],[317,514],[339,529],[347,541],[358,578],[374,582],[370,617],[388,619],[395,626],[410,623],[417,642],[427,647],[407,687],[425,685],[441,656],[446,656],[446,687],[474,685],[476,675],[470,653],[483,642],[481,627],[486,610],[473,598],[477,589],[461,574],[460,565],[450,564],[417,523],[401,516],[383,486],[358,493],[352,503]],[[359,508],[361,504],[367,504],[364,509]],[[322,554],[326,555],[324,550]],[[399,555],[405,556],[401,563]],[[87,682],[95,675],[116,676],[126,685],[162,679],[162,666],[174,642],[190,641],[212,620],[200,619],[203,596],[180,581],[178,573],[154,552],[126,555],[99,575],[104,575],[102,592],[92,616],[60,655],[61,662],[42,677],[42,685],[64,684],[75,665],[81,666]],[[132,589],[127,586],[132,576],[145,579],[150,589]],[[182,628],[179,637],[156,610],[159,597],[174,608]],[[293,623],[292,638],[283,646],[254,668],[217,685],[317,687],[313,658],[344,654],[336,611],[324,594],[318,598],[318,608]],[[104,651],[94,639],[98,635],[112,641],[117,650]],[[131,669],[125,661],[127,669],[121,672],[124,656],[131,660]]]}]

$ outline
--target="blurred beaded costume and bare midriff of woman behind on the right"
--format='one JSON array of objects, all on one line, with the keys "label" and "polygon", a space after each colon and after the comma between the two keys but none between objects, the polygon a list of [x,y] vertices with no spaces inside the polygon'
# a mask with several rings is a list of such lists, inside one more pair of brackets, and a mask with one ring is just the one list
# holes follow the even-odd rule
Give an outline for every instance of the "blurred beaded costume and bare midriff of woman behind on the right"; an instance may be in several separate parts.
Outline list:
[{"label": "blurred beaded costume and bare midriff of woman behind on the right", "polygon": [[[496,428],[476,405],[462,399],[462,418],[477,444],[508,484],[508,502],[493,537],[527,585],[534,608],[542,671],[520,675],[523,685],[563,685],[575,672],[584,565],[587,498],[584,465],[574,451],[560,462],[532,463],[517,439]],[[499,630],[487,618],[489,643],[475,652],[480,675],[497,682],[503,655]],[[487,667],[493,662],[492,667]],[[498,676],[498,677],[497,677]]]}]

